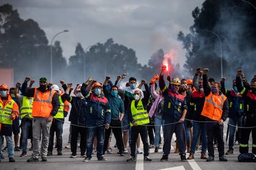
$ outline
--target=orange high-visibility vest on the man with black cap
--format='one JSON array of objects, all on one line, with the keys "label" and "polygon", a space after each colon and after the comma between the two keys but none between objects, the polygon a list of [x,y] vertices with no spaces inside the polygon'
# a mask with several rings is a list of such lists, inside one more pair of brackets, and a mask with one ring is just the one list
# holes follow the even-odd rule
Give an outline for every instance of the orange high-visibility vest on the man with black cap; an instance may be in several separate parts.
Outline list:
[{"label": "orange high-visibility vest on the man with black cap", "polygon": [[51,111],[53,110],[53,105],[51,104],[51,101],[53,100],[54,93],[55,91],[53,90],[41,92],[37,88],[35,88],[32,109],[33,117],[49,118],[49,116],[51,115]]}]

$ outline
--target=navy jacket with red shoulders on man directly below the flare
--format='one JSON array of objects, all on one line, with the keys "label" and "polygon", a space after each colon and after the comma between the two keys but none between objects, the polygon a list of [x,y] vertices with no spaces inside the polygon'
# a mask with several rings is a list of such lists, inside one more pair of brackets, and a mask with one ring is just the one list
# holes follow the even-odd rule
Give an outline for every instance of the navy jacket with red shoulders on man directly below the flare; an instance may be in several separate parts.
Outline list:
[{"label": "navy jacket with red shoulders on man directly below the flare", "polygon": [[163,75],[160,75],[159,86],[164,95],[163,119],[177,122],[181,119],[183,111],[187,110],[187,103],[183,95],[174,93],[167,88],[164,83]]}]

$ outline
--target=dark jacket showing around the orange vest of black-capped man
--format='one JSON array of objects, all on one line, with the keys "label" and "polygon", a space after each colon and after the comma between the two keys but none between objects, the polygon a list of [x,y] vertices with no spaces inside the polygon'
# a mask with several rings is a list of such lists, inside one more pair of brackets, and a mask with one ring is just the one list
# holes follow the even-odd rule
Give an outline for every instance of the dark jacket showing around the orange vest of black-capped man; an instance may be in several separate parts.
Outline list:
[{"label": "dark jacket showing around the orange vest of black-capped man", "polygon": [[[28,86],[27,82],[24,81],[24,83],[22,84],[22,90],[21,90],[22,94],[27,97],[34,97],[35,88],[28,89],[27,86]],[[51,91],[52,89],[49,88],[49,89],[43,90],[39,87],[38,90],[41,92],[46,92],[46,91]],[[51,104],[53,105],[53,110],[51,110],[51,115],[55,116],[58,113],[59,107],[61,106],[61,104],[59,103],[59,95],[57,93],[54,93],[53,99],[51,100]]]}]

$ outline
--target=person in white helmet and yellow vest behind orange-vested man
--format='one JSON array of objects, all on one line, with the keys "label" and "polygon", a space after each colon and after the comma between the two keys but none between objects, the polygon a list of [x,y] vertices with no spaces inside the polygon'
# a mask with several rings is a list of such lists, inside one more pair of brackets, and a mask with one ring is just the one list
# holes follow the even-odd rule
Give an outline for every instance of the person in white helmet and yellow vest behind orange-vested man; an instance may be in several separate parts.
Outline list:
[{"label": "person in white helmet and yellow vest behind orange-vested man", "polygon": [[58,155],[62,155],[62,132],[63,132],[63,124],[64,124],[64,117],[67,116],[67,107],[69,107],[69,102],[67,102],[66,95],[62,95],[59,86],[53,84],[51,86],[53,91],[56,91],[59,95],[59,103],[61,107],[59,107],[58,113],[53,117],[53,123],[51,124],[50,133],[49,133],[49,146],[48,146],[48,156],[53,155],[53,140],[54,140],[54,133],[56,132],[56,145],[57,145],[57,152]]}]

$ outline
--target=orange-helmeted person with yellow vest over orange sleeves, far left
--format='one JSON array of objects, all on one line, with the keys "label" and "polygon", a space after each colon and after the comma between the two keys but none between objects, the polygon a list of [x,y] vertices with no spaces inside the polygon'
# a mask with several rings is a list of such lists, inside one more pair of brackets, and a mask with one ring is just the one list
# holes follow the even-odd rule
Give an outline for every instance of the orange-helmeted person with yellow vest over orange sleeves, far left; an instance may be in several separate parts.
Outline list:
[{"label": "orange-helmeted person with yellow vest over orange sleeves, far left", "polygon": [[[5,136],[9,161],[15,162],[12,142],[12,121],[18,118],[19,107],[12,100],[11,95],[7,94],[8,90],[7,84],[0,86],[0,146],[2,146],[3,142],[2,136]],[[2,158],[2,147],[0,147],[0,157]]]}]

